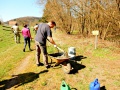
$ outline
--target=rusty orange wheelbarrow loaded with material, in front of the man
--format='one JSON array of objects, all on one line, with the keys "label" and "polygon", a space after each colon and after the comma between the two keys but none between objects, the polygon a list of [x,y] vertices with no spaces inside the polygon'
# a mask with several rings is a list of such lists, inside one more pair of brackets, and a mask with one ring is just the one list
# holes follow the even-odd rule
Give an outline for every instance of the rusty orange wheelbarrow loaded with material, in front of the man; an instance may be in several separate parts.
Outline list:
[{"label": "rusty orange wheelbarrow loaded with material, in front of the man", "polygon": [[[60,49],[59,47],[57,47],[57,49],[63,51],[62,49]],[[53,53],[53,54],[48,54],[48,56],[51,59],[51,63],[54,61],[54,67],[61,65],[62,66],[62,70],[64,71],[64,73],[69,74],[70,71],[73,69],[70,62],[69,62],[69,57],[67,55],[66,52],[58,52],[58,53]]]}]

